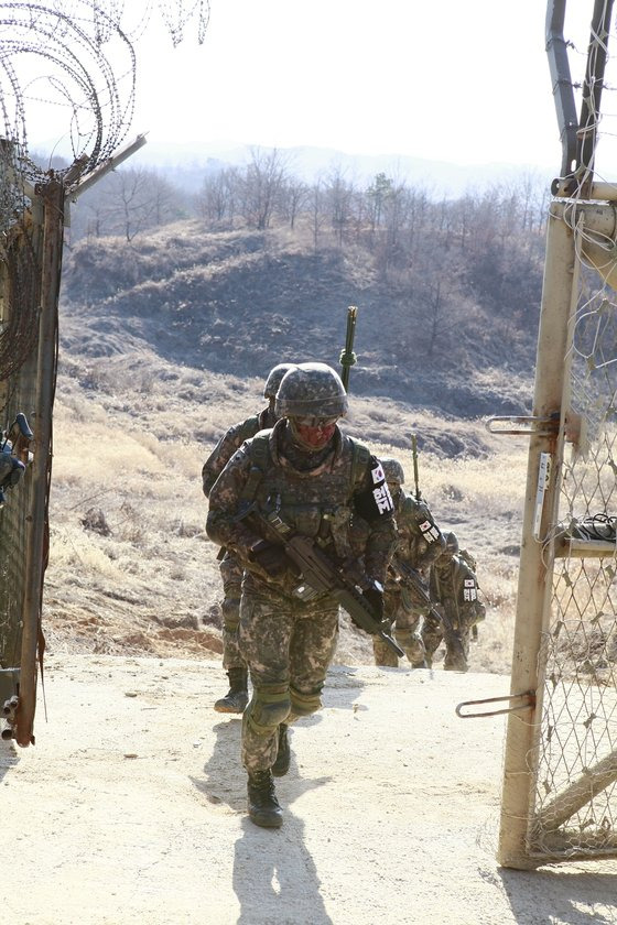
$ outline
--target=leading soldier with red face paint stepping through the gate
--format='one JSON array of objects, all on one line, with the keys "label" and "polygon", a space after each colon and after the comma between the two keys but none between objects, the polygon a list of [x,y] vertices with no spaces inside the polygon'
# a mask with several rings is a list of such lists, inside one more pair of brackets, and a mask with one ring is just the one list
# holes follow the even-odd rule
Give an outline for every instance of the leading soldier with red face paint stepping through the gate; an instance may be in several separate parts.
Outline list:
[{"label": "leading soldier with red face paint stepping through the gate", "polygon": [[266,827],[282,825],[273,775],[289,770],[288,726],[321,707],[338,635],[336,598],[325,591],[301,599],[303,586],[270,523],[315,540],[343,563],[353,556],[351,515],[361,515],[368,527],[358,583],[376,612],[396,538],[381,465],[337,426],[347,412],[338,374],[324,363],[300,363],[284,376],[275,412],[273,429],[243,444],[219,476],[206,524],[246,567],[239,643],[253,694],[242,717],[241,759],[249,816]]}]

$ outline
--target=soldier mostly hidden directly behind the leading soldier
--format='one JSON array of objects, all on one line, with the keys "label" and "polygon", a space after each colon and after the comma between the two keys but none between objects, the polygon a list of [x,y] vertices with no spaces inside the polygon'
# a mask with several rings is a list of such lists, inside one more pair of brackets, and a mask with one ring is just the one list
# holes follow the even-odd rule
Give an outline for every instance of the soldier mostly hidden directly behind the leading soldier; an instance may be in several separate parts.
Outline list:
[{"label": "soldier mostly hidden directly behind the leading soldier", "polygon": [[[229,427],[219,439],[202,469],[204,494],[209,498],[210,490],[223,469],[245,440],[255,437],[259,431],[273,427],[277,423],[274,413],[274,398],[281,379],[295,363],[279,363],[270,370],[263,398],[268,399],[268,406],[259,414],[247,417],[240,424]],[[216,700],[214,708],[217,712],[242,712],[249,701],[247,666],[238,650],[237,630],[240,620],[240,588],[242,585],[243,566],[234,553],[221,549],[219,570],[223,579],[223,667],[229,678],[229,690],[225,697]]]}]

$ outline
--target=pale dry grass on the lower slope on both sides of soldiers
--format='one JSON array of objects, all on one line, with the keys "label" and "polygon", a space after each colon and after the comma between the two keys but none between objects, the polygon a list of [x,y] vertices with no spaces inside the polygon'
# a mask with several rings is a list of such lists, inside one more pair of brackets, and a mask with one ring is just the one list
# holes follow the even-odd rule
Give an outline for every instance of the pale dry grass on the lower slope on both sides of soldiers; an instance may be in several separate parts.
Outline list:
[{"label": "pale dry grass on the lower slope on both sides of soldiers", "polygon": [[[149,353],[65,361],[45,587],[52,648],[219,656],[217,549],[204,532],[201,468],[220,433],[262,405],[260,393],[259,380],[167,367]],[[524,445],[495,443],[481,422],[401,423],[400,405],[375,400],[354,402],[348,429],[366,438],[369,413],[386,439],[394,434],[400,444],[413,427],[455,434],[468,447],[457,459],[422,453],[421,489],[440,525],[478,559],[487,619],[472,665],[507,672],[518,564],[508,547],[519,542]],[[370,444],[401,459],[411,488],[411,451]],[[369,663],[370,641],[346,618],[343,625],[338,661]]]}]

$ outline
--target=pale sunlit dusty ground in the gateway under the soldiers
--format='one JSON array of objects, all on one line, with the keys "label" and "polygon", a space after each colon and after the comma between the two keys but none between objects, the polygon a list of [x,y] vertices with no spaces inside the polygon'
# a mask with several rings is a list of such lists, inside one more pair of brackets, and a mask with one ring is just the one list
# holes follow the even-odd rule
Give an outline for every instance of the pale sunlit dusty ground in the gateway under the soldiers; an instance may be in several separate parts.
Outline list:
[{"label": "pale sunlit dusty ground in the gateway under the soldiers", "polygon": [[36,746],[2,743],[2,921],[15,925],[604,925],[617,862],[495,860],[495,674],[336,666],[293,732],[279,831],[245,814],[217,662],[55,654]]}]

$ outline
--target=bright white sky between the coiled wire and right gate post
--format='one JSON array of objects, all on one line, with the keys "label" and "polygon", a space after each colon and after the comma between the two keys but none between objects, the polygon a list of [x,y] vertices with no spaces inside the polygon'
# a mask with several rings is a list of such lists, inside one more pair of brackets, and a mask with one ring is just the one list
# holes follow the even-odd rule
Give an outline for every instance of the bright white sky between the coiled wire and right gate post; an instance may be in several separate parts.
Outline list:
[{"label": "bright white sky between the coiled wire and right gate post", "polygon": [[[592,11],[593,0],[570,0],[566,37],[582,52],[571,54],[574,79]],[[544,20],[543,0],[210,0],[202,45],[196,23],[175,50],[154,23],[137,44],[132,130],[152,142],[314,145],[556,173]],[[615,30],[609,51],[617,59]],[[603,99],[608,131],[616,96]],[[597,164],[617,177],[609,141]]]}]

